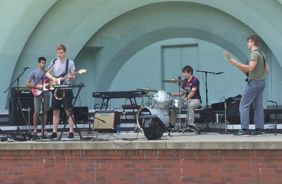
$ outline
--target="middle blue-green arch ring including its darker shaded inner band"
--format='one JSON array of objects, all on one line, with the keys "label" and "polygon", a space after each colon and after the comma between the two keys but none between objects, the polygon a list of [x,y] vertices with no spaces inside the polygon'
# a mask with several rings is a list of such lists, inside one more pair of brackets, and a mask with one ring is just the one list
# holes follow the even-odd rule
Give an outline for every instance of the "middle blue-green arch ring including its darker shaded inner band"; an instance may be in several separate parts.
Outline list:
[{"label": "middle blue-green arch ring including its darker shaded inner band", "polygon": [[[148,20],[150,17],[154,19]],[[142,24],[144,21],[146,25]],[[219,21],[224,24],[215,27]],[[232,28],[233,25],[236,28]],[[107,91],[115,74],[128,59],[145,47],[170,38],[205,40],[231,50],[238,59],[245,61],[249,54],[245,34],[250,33],[253,30],[236,18],[196,3],[162,3],[161,7],[151,4],[132,10],[106,24],[86,43],[89,47],[103,46],[103,55],[107,56],[97,64],[99,83],[94,82],[94,89],[102,86],[97,90]]]}]

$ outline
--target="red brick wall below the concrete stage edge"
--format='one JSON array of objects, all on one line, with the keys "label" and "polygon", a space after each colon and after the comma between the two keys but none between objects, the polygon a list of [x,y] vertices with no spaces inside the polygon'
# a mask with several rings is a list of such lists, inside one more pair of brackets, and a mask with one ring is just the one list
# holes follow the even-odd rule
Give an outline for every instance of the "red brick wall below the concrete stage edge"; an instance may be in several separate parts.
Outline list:
[{"label": "red brick wall below the concrete stage edge", "polygon": [[282,150],[2,150],[0,153],[0,183],[282,183]]}]

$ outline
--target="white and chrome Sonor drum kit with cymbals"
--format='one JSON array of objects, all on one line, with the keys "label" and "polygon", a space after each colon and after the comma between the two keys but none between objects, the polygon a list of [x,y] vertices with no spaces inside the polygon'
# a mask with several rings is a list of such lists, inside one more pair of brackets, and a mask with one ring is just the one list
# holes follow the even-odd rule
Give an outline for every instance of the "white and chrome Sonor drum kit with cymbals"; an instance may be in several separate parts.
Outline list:
[{"label": "white and chrome Sonor drum kit with cymbals", "polygon": [[[183,80],[180,79],[169,79],[169,80],[162,80],[162,82],[166,82],[166,83],[175,83],[179,86],[179,100],[173,100],[171,99],[171,94],[166,92],[166,91],[158,91],[158,90],[154,90],[151,88],[138,88],[137,90],[143,90],[146,91],[146,94],[143,95],[141,98],[141,109],[138,111],[137,113],[137,125],[139,127],[140,130],[142,130],[141,128],[141,116],[142,115],[155,115],[157,116],[167,127],[169,125],[170,122],[170,110],[171,109],[176,109],[178,111],[179,114],[179,119],[177,119],[177,123],[171,132],[185,132],[186,130],[191,130],[194,131],[196,133],[200,133],[199,129],[196,127],[196,130],[194,130],[194,126],[191,127],[190,125],[188,125],[188,108],[187,108],[187,117],[185,119],[185,122],[181,124],[181,119],[180,119],[180,111],[184,110],[187,107],[187,103],[188,101],[185,101],[183,99],[180,99],[180,90],[184,91],[185,93],[190,93],[190,90],[184,90],[181,88],[181,82],[183,82]],[[154,95],[151,95],[150,92],[154,92]],[[148,102],[145,103],[144,105],[144,98],[148,97]],[[153,104],[153,99],[154,99],[154,104]]]}]

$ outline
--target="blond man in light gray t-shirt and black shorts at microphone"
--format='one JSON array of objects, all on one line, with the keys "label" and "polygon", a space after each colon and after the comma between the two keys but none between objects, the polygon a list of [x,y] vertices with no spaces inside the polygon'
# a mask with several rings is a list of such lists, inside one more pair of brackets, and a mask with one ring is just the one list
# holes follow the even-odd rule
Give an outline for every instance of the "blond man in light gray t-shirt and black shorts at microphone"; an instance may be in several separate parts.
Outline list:
[{"label": "blond man in light gray t-shirt and black shorts at microphone", "polygon": [[[66,54],[66,47],[65,45],[58,45],[56,48],[58,60],[55,61],[55,64],[50,68],[50,70],[46,73],[46,77],[51,79],[55,84],[69,84],[70,81],[74,80],[76,78],[75,76],[75,64],[73,61],[68,60],[68,67],[67,65],[67,59],[65,58]],[[66,71],[67,68],[67,71]],[[60,76],[61,74],[66,73],[64,76],[67,76],[65,81],[60,81],[59,79],[53,77],[50,72],[54,71],[55,76]],[[62,76],[62,77],[64,77]],[[51,82],[50,82],[51,83]],[[65,112],[67,115],[69,115],[69,111],[72,107],[72,100],[73,100],[73,93],[70,88],[68,89],[62,89],[61,95],[64,93],[65,96],[63,98],[58,98],[55,95],[55,90],[52,91],[52,106],[53,109],[53,134],[50,135],[50,138],[57,138],[57,129],[59,125],[60,120],[60,108],[63,105],[65,107]],[[58,90],[59,91],[59,90]],[[71,117],[68,119],[68,123],[70,126],[70,133],[68,138],[74,138],[73,136],[73,120]]]}]

